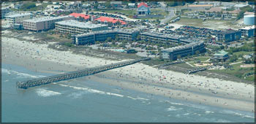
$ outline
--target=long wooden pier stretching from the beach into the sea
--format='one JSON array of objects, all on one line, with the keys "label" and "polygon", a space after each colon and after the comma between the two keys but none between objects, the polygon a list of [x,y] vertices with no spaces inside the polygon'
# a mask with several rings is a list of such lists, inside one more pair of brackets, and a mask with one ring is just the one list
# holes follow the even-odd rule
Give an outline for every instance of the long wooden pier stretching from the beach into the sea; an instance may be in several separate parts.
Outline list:
[{"label": "long wooden pier stretching from the beach into the sea", "polygon": [[133,63],[138,63],[140,61],[148,61],[148,60],[150,60],[150,58],[140,58],[140,59],[136,59],[136,60],[132,60],[132,61],[112,63],[112,64],[108,64],[105,66],[98,66],[98,67],[83,69],[83,70],[79,70],[79,71],[72,71],[72,72],[68,72],[65,74],[57,74],[57,75],[53,75],[50,77],[42,77],[42,78],[38,78],[35,80],[27,80],[25,82],[17,82],[16,85],[18,88],[26,89],[26,88],[30,88],[30,87],[34,87],[34,86],[38,86],[38,85],[45,85],[45,84],[48,84],[51,82],[59,82],[62,80],[71,80],[71,79],[74,79],[77,77],[84,77],[84,76],[96,74],[96,73],[99,73],[102,71],[116,69],[116,68],[119,68],[122,66],[128,66]]}]

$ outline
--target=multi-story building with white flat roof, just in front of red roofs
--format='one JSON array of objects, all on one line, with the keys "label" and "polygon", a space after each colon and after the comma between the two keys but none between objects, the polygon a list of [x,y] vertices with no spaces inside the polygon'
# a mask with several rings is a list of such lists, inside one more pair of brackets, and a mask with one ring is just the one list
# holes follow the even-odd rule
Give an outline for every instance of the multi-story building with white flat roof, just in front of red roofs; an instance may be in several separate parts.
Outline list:
[{"label": "multi-story building with white flat roof, just in front of red roofs", "polygon": [[55,29],[65,34],[82,34],[91,31],[108,30],[108,25],[85,23],[78,20],[63,20],[55,23]]}]

